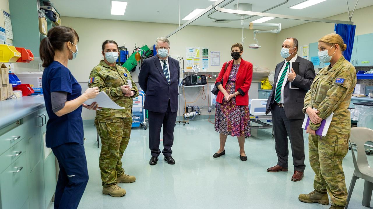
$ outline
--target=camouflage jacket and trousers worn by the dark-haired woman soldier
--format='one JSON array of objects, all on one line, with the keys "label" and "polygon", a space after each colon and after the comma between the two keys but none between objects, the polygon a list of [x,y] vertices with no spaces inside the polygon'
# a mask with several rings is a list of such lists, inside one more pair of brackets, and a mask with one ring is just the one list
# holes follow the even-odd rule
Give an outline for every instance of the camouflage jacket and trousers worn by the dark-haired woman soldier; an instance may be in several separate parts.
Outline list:
[{"label": "camouflage jacket and trousers worn by the dark-haired woman soldier", "polygon": [[128,79],[132,82],[131,90],[135,92],[133,97],[136,97],[138,90],[129,71],[119,65],[110,67],[101,60],[91,71],[88,82],[90,88],[98,87],[117,105],[125,107],[120,110],[102,108],[96,111],[95,125],[102,143],[99,166],[104,187],[116,184],[117,177],[124,174],[121,159],[131,135],[132,98],[124,96],[120,86],[128,85]]}]

